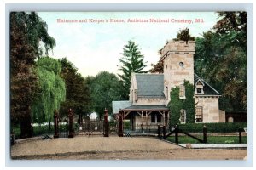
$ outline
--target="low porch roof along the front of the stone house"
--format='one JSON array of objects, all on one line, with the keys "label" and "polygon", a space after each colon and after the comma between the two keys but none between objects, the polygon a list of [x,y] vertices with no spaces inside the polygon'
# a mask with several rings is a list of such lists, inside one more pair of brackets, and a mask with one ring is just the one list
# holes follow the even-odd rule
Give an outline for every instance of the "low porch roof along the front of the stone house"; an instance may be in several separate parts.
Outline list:
[{"label": "low porch roof along the front of the stone house", "polygon": [[169,111],[166,105],[131,105],[122,111]]}]

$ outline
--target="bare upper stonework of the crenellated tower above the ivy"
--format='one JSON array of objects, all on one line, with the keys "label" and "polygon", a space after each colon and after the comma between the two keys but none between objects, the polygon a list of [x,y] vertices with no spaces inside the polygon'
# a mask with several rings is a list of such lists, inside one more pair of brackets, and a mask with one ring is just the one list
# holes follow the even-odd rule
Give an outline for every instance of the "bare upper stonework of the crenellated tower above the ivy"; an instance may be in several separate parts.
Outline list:
[{"label": "bare upper stonework of the crenellated tower above the ivy", "polygon": [[170,91],[173,87],[183,85],[184,80],[194,84],[194,54],[194,41],[168,41],[160,50],[160,60],[164,64],[166,105],[171,99]]}]

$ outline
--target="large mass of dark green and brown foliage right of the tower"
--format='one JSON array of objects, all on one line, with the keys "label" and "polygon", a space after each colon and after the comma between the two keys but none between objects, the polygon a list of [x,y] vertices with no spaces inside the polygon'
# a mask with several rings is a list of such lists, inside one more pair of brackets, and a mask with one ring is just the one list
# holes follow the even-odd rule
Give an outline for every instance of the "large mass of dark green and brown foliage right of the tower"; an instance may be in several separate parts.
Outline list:
[{"label": "large mass of dark green and brown foliage right of the tower", "polygon": [[195,72],[223,94],[220,109],[247,110],[247,14],[221,12],[195,42]]}]

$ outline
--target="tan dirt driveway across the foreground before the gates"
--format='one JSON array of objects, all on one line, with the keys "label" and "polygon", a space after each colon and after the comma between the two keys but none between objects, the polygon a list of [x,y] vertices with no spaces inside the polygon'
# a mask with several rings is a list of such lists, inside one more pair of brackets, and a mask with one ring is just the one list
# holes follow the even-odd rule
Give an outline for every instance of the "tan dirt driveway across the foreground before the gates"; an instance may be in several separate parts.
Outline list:
[{"label": "tan dirt driveway across the foreground before the gates", "polygon": [[182,160],[244,159],[247,150],[184,149],[155,138],[32,139],[11,147],[13,159]]}]

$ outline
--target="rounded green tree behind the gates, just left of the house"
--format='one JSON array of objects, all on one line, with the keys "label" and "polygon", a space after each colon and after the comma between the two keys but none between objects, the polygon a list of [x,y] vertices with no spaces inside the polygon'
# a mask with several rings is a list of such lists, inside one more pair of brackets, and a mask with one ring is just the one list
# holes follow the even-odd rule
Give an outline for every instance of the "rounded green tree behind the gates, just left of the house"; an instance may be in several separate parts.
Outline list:
[{"label": "rounded green tree behind the gates, just left of the house", "polygon": [[90,92],[93,110],[96,111],[100,119],[102,119],[105,108],[108,114],[113,113],[112,101],[120,99],[120,87],[118,77],[113,73],[102,71],[96,77],[88,77],[90,79]]}]

